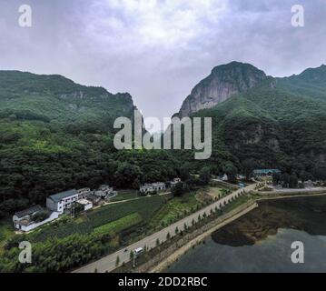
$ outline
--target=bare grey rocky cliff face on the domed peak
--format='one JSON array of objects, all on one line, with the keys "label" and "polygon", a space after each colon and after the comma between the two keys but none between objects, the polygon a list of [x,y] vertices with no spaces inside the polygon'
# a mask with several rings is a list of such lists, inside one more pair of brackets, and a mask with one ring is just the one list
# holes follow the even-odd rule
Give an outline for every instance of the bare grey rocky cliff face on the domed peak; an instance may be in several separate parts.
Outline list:
[{"label": "bare grey rocky cliff face on the domed peak", "polygon": [[191,95],[184,100],[179,116],[189,116],[218,105],[232,95],[252,88],[266,77],[264,72],[250,64],[232,62],[216,66],[211,75],[196,85]]}]

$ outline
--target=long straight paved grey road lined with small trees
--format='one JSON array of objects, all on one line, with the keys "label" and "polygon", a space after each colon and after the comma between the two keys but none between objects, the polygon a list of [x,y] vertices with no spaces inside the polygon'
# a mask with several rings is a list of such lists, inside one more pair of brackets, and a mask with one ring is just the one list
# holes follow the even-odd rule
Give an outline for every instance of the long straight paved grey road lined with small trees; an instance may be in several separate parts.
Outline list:
[{"label": "long straight paved grey road lined with small trees", "polygon": [[165,227],[162,230],[154,233],[151,236],[146,236],[142,240],[134,243],[131,246],[128,246],[127,252],[124,252],[124,249],[120,249],[119,251],[115,252],[114,254],[111,254],[109,256],[104,256],[103,258],[94,261],[93,263],[90,263],[86,266],[83,266],[77,270],[75,270],[73,273],[94,273],[94,270],[96,269],[98,273],[104,273],[104,272],[111,272],[115,269],[115,262],[117,256],[120,258],[120,264],[123,262],[127,263],[130,261],[130,251],[134,250],[137,247],[143,247],[147,246],[147,248],[155,247],[156,246],[156,240],[157,238],[160,240],[160,242],[163,242],[166,240],[166,236],[168,233],[170,233],[170,236],[175,236],[175,229],[178,227],[179,230],[183,230],[184,224],[187,226],[192,226],[193,220],[196,222],[198,221],[198,216],[203,216],[205,213],[207,216],[211,214],[211,210],[213,211],[215,207],[221,208],[224,205],[224,202],[228,204],[233,197],[241,196],[243,193],[243,190],[246,192],[252,191],[256,185],[253,184],[251,186],[246,186],[242,189],[238,189],[232,194],[228,196],[222,197],[220,200],[212,203],[209,206],[204,207],[203,209],[193,213],[193,215],[187,216],[183,218],[182,220],[179,220],[178,222],[174,223],[171,226]]}]

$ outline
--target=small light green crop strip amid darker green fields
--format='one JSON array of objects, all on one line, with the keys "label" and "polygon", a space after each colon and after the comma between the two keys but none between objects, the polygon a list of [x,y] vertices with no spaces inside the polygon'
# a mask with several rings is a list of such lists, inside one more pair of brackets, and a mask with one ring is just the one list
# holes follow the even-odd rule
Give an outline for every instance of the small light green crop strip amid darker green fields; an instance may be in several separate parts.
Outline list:
[{"label": "small light green crop strip amid darker green fields", "polygon": [[130,216],[124,216],[114,222],[94,228],[94,234],[104,235],[109,233],[118,233],[125,228],[135,226],[143,220],[139,213],[133,213]]}]

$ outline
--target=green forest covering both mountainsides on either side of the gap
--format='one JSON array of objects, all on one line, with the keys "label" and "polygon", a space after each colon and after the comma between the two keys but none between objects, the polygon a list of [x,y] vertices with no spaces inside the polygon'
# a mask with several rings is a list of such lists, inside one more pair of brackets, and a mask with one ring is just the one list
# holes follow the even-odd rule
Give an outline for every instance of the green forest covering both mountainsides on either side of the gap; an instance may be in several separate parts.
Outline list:
[{"label": "green forest covering both mountainsides on either side of the gap", "polygon": [[61,75],[0,72],[0,216],[70,188],[137,188],[211,174],[278,167],[326,178],[325,66],[262,81],[193,116],[212,116],[212,156],[192,150],[122,150],[114,119],[133,116],[132,96],[77,85]]}]

